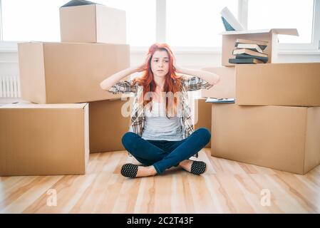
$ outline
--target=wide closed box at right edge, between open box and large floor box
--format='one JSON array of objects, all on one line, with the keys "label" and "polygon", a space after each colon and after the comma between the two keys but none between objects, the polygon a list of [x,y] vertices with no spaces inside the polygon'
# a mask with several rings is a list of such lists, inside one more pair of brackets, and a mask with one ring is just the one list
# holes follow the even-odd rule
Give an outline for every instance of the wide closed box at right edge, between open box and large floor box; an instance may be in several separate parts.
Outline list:
[{"label": "wide closed box at right edge, between open box and large floor box", "polygon": [[320,63],[236,66],[238,105],[320,106]]}]

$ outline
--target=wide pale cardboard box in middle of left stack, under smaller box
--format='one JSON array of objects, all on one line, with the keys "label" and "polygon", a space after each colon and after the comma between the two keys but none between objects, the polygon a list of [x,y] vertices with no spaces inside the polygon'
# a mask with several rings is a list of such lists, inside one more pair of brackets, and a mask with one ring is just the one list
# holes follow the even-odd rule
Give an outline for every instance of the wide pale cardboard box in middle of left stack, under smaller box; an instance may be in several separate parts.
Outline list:
[{"label": "wide pale cardboard box in middle of left stack, under smaller box", "polygon": [[107,43],[19,43],[21,98],[81,103],[120,98],[100,83],[130,66],[130,47]]}]

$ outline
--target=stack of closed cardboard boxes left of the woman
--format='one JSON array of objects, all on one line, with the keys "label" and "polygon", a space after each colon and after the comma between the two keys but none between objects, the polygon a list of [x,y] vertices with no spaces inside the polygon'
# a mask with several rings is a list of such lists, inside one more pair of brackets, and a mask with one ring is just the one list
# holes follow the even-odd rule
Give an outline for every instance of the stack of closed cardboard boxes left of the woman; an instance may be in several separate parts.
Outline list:
[{"label": "stack of closed cardboard boxes left of the woman", "polygon": [[1,176],[85,174],[89,150],[123,150],[127,101],[100,82],[130,66],[125,11],[68,5],[60,8],[61,42],[19,43],[27,102],[0,108]]}]

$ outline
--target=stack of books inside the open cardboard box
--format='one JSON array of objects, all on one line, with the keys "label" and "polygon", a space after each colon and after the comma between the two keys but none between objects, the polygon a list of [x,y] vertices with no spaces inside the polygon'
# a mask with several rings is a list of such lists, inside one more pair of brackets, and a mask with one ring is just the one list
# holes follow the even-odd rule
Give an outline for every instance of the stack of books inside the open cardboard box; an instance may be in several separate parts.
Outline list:
[{"label": "stack of books inside the open cardboard box", "polygon": [[254,41],[238,38],[234,44],[236,49],[232,51],[235,58],[229,58],[229,63],[245,64],[245,63],[267,63],[268,55],[264,50],[268,46],[267,41]]}]

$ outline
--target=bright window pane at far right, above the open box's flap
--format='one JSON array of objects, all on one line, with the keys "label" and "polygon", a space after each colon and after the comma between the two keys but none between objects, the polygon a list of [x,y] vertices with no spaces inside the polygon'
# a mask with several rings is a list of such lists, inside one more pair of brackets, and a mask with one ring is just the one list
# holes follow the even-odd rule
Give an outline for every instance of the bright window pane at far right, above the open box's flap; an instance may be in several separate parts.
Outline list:
[{"label": "bright window pane at far right, above the open box's flap", "polygon": [[248,29],[297,28],[299,36],[279,35],[280,43],[311,43],[313,17],[313,0],[249,0],[248,3]]}]

